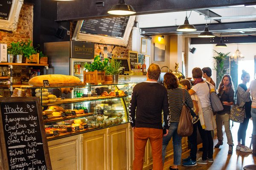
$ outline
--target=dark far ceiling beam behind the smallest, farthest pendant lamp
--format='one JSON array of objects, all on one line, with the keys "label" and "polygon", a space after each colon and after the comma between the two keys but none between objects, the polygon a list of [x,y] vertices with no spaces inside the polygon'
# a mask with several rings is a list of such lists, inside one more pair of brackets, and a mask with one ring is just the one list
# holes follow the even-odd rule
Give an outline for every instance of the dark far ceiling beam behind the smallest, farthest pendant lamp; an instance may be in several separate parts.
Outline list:
[{"label": "dark far ceiling beam behind the smallest, farthest pendant lamp", "polygon": [[[222,36],[221,36],[222,37]],[[222,37],[225,44],[232,43],[256,43],[255,36],[245,37]],[[217,44],[220,41],[220,37],[214,38],[191,38],[191,44]]]}]

